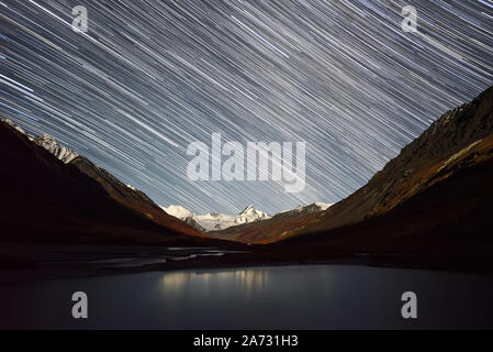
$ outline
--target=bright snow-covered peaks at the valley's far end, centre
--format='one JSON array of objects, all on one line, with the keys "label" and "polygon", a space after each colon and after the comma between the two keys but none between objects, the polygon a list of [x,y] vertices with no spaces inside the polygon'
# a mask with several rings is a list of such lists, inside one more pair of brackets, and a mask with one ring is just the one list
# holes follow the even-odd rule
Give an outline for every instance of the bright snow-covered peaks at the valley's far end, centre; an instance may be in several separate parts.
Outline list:
[{"label": "bright snow-covered peaks at the valley's far end, centre", "polygon": [[202,228],[203,231],[224,230],[237,224],[270,218],[266,212],[257,210],[254,206],[246,207],[245,210],[238,215],[225,215],[220,212],[195,215],[181,206],[169,206],[161,208],[170,216],[187,221],[190,224],[195,222]]}]

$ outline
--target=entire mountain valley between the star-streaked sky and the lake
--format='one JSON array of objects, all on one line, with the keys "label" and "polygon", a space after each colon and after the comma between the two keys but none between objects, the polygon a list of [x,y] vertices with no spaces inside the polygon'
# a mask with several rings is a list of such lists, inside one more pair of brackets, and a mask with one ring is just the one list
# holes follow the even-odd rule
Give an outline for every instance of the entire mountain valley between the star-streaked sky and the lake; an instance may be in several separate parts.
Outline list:
[{"label": "entire mountain valley between the star-streaked sky and the lake", "polygon": [[[491,272],[492,106],[490,88],[444,114],[346,199],[274,216],[254,206],[236,216],[159,207],[51,139],[43,138],[46,148],[2,123],[0,156],[10,167],[1,177],[10,187],[1,267],[38,274],[64,267],[68,276],[320,263]],[[61,244],[79,260],[23,250]]]}]

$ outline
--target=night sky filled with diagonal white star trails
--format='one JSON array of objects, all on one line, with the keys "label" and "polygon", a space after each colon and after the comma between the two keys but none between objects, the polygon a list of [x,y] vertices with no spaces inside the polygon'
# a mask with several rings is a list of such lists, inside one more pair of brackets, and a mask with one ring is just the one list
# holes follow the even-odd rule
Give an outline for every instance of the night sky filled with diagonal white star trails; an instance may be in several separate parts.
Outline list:
[{"label": "night sky filled with diagonal white star trails", "polygon": [[[0,1],[0,114],[194,212],[336,202],[491,85],[491,0]],[[190,182],[214,132],[306,142],[305,189]]]}]

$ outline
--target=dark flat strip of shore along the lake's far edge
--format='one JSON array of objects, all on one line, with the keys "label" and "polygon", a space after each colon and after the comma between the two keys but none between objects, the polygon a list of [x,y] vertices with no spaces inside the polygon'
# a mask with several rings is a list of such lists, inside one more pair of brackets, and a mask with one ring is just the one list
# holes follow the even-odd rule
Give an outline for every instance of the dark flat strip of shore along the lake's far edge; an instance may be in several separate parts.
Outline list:
[{"label": "dark flat strip of shore along the lake's far edge", "polygon": [[[135,264],[133,266],[111,266],[104,264],[96,264],[91,261],[79,262],[77,264],[70,262],[59,262],[54,266],[24,267],[10,270],[0,270],[0,285],[15,285],[20,283],[35,280],[53,280],[53,279],[77,279],[83,277],[103,277],[114,275],[130,275],[150,272],[180,272],[180,271],[206,271],[206,270],[244,270],[256,267],[276,267],[276,266],[303,266],[303,265],[356,265],[380,268],[399,268],[399,270],[417,270],[434,272],[451,272],[451,273],[471,273],[491,275],[493,271],[483,265],[463,265],[463,261],[433,261],[423,257],[392,256],[392,260],[385,255],[371,256],[338,256],[326,258],[259,258],[259,252],[249,253],[226,253],[222,256],[197,256],[188,260],[167,258],[164,263]],[[261,253],[265,254],[265,253]],[[123,260],[124,257],[115,257],[112,260]],[[127,258],[127,257],[126,257]],[[156,258],[157,260],[157,258]],[[137,258],[138,261],[138,258]]]}]

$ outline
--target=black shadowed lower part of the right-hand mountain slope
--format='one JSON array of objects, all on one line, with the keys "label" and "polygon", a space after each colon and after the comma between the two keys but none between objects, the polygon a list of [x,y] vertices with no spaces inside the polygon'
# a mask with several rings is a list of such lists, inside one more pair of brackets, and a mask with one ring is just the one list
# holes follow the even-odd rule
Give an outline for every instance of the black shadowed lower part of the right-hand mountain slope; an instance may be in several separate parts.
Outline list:
[{"label": "black shadowed lower part of the right-hand mountain slope", "polygon": [[[493,138],[489,139],[493,154]],[[466,162],[466,161],[464,161]],[[368,263],[493,271],[493,158],[450,177],[382,216],[264,246],[277,260],[355,257]]]}]

